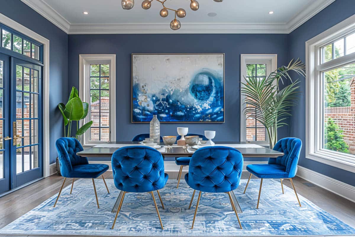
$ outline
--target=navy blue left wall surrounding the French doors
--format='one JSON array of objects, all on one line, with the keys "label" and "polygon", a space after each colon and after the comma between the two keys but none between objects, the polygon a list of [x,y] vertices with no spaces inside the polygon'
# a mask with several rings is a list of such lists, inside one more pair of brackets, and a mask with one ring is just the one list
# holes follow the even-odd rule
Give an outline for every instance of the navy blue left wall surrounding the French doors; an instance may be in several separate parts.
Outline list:
[{"label": "navy blue left wall surrounding the French doors", "polygon": [[49,148],[50,163],[55,162],[55,140],[63,134],[57,104],[67,100],[68,35],[20,0],[1,0],[0,13],[49,39]]}]

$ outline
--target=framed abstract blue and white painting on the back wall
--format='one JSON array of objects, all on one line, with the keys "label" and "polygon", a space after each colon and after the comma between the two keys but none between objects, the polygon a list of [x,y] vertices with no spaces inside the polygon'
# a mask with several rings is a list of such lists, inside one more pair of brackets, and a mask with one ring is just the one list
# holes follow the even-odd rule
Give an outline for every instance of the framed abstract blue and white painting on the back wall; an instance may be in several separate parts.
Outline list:
[{"label": "framed abstract blue and white painting on the back wall", "polygon": [[224,122],[224,54],[132,54],[132,122]]}]

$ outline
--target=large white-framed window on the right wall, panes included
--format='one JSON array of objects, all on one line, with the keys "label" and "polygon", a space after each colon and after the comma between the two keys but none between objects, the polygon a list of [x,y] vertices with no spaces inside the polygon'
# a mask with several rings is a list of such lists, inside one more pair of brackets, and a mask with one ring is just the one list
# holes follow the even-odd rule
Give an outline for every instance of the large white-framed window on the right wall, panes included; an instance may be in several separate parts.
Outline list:
[{"label": "large white-framed window on the right wall, panes included", "polygon": [[355,172],[355,16],[306,42],[306,157]]}]

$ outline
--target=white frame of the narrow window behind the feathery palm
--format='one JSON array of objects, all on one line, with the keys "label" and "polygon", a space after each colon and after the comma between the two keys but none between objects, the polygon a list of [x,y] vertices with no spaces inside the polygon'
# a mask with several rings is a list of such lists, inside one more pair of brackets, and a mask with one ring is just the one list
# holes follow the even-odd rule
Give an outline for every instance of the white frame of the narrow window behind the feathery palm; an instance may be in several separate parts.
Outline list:
[{"label": "white frame of the narrow window behind the feathery palm", "polygon": [[[247,64],[266,64],[266,76],[277,69],[277,54],[241,54],[240,55],[240,81],[246,83]],[[242,87],[242,84],[240,84]],[[246,116],[244,115],[245,96],[240,96],[240,141],[246,141]],[[269,138],[266,135],[266,141],[252,141],[250,143],[269,145]]]}]

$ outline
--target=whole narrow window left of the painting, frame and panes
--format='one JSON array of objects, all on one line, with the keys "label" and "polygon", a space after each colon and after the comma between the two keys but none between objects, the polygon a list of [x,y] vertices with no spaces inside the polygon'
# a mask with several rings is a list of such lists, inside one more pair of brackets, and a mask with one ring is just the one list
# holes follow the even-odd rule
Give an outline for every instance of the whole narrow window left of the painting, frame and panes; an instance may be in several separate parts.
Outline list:
[{"label": "whole narrow window left of the painting, frame and panes", "polygon": [[80,97],[89,103],[84,123],[93,121],[84,145],[115,140],[115,55],[80,55]]}]

